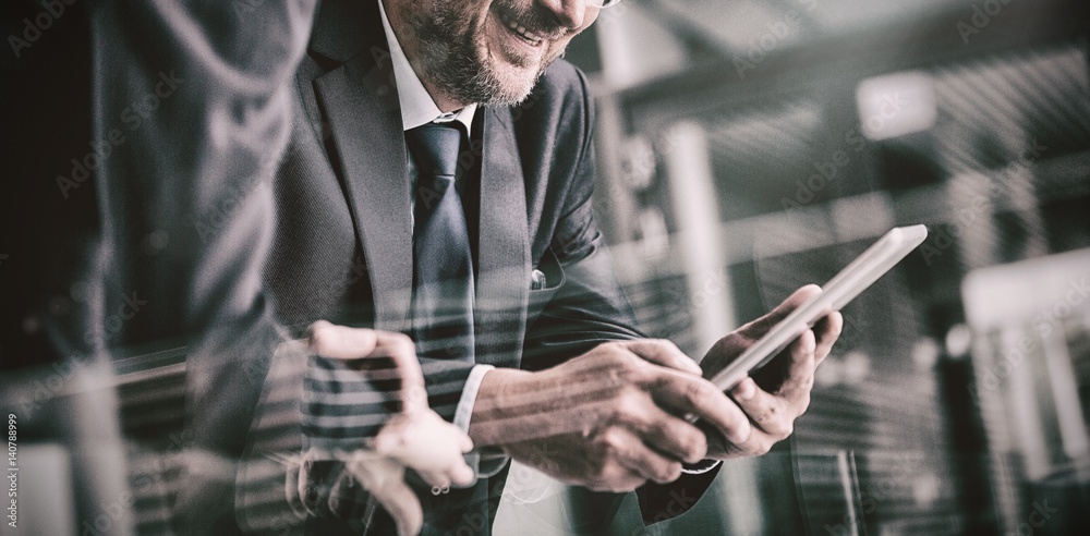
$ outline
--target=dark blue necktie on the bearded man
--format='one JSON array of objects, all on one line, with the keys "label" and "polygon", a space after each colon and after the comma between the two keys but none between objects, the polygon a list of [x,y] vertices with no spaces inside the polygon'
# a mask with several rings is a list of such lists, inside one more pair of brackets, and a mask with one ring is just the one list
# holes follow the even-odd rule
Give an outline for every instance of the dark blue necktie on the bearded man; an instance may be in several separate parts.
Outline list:
[{"label": "dark blue necktie on the bearded man", "polygon": [[413,339],[422,357],[473,361],[473,256],[455,187],[462,142],[457,125],[405,132],[416,163]]}]

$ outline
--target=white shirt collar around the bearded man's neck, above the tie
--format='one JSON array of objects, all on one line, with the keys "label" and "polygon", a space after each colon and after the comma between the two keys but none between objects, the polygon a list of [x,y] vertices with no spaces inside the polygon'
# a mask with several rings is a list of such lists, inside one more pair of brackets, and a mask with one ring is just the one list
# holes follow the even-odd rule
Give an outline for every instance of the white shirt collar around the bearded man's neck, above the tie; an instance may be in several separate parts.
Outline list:
[{"label": "white shirt collar around the bearded man's neck, above the tie", "polygon": [[451,113],[443,113],[435,100],[424,88],[416,72],[412,70],[409,59],[401,50],[398,36],[390,27],[390,21],[386,17],[386,7],[383,0],[378,2],[378,12],[383,17],[383,29],[386,32],[386,41],[390,46],[390,61],[393,62],[393,77],[398,84],[398,100],[401,103],[401,123],[405,131],[415,129],[427,123],[445,123],[459,121],[465,125],[465,132],[472,132],[473,114],[476,112],[476,105],[469,105],[461,110]]}]

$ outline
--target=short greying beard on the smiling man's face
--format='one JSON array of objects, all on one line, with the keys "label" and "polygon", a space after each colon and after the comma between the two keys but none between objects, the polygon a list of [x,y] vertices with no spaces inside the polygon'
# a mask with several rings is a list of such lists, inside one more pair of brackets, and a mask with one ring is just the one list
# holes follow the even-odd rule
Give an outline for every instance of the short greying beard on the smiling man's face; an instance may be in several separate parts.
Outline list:
[{"label": "short greying beard on the smiling man's face", "polygon": [[[545,57],[533,76],[505,76],[493,61],[482,58],[484,19],[479,12],[463,11],[464,0],[434,0],[434,10],[419,10],[407,17],[417,42],[419,68],[445,95],[465,103],[514,106],[530,95],[537,80],[562,50]],[[499,5],[532,25],[547,38],[564,35],[565,29],[540,15],[534,5],[520,10],[500,0]],[[486,15],[483,15],[486,16]],[[548,41],[542,46],[548,46]],[[494,61],[500,61],[498,59]],[[519,65],[531,66],[531,65]]]}]

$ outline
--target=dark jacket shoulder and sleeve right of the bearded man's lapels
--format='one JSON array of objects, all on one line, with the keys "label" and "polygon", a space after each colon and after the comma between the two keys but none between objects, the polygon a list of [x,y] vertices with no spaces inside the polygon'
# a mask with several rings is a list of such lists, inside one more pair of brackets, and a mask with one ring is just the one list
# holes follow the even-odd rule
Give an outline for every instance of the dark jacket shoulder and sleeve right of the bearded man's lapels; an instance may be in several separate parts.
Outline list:
[{"label": "dark jacket shoulder and sleeve right of the bearded man's lapels", "polygon": [[[554,82],[538,94],[549,105],[535,106],[526,113],[547,115],[537,122],[557,125],[545,134],[553,136],[545,142],[553,146],[550,154],[544,162],[531,162],[550,170],[544,205],[555,219],[543,219],[545,231],[538,231],[535,243],[547,244],[540,267],[557,283],[550,284],[546,299],[531,296],[531,307],[535,300],[545,304],[540,314],[530,315],[526,327],[522,367],[530,370],[555,366],[605,341],[643,337],[594,221],[594,112],[586,80],[566,63],[557,62],[550,70]],[[558,170],[566,172],[557,176]]]}]

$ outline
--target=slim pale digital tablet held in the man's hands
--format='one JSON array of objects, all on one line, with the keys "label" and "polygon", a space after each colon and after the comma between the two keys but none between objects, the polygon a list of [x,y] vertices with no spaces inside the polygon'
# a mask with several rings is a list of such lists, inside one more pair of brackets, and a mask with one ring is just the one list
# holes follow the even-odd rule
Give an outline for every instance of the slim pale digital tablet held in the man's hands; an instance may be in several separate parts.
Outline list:
[{"label": "slim pale digital tablet held in the man's hands", "polygon": [[716,373],[712,382],[726,391],[764,366],[814,322],[839,310],[928,237],[925,226],[898,227],[887,232],[839,273],[829,279],[824,292],[792,310],[737,360]]}]

